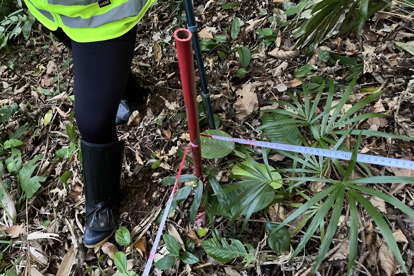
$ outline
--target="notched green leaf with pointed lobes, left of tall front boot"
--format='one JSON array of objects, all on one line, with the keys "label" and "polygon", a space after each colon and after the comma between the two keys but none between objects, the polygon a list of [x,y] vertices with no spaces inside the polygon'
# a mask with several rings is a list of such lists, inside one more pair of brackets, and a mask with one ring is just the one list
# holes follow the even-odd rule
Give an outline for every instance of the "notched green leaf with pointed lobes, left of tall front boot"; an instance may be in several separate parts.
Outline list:
[{"label": "notched green leaf with pointed lobes, left of tall front boot", "polygon": [[46,177],[31,177],[31,174],[37,167],[34,163],[36,163],[41,157],[43,157],[43,154],[34,157],[19,171],[20,185],[28,198],[31,198],[33,194],[36,193],[36,191],[42,186],[40,182],[46,181]]}]

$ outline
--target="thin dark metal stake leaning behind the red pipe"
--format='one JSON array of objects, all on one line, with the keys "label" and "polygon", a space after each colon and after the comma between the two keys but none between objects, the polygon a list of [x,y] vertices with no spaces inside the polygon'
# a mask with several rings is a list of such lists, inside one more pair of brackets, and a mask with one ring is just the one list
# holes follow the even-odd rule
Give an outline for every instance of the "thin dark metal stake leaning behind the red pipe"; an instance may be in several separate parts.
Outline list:
[{"label": "thin dark metal stake leaning behind the red pipe", "polygon": [[198,74],[200,75],[203,97],[207,107],[207,114],[210,120],[210,128],[216,129],[216,124],[214,123],[213,108],[210,102],[210,90],[208,89],[207,85],[206,72],[204,70],[204,62],[201,55],[200,41],[198,39],[197,22],[195,22],[193,3],[192,0],[183,0],[183,2],[185,8],[185,16],[187,17],[187,28],[192,34],[195,60],[197,61]]}]

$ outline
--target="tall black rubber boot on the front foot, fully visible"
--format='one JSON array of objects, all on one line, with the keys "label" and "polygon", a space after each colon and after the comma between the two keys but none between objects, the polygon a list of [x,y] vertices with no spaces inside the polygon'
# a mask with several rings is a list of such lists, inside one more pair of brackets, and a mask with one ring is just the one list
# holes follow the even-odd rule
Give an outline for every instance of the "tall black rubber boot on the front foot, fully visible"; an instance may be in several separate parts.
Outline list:
[{"label": "tall black rubber boot on the front foot, fully visible", "polygon": [[118,224],[124,142],[92,144],[81,139],[86,247],[102,245]]}]

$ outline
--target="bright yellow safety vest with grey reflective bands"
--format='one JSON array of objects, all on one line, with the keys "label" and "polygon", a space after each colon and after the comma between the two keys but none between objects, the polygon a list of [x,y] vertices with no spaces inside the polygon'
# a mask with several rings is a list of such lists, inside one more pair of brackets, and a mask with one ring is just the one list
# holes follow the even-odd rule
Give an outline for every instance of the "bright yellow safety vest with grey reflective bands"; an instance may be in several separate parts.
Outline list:
[{"label": "bright yellow safety vest with grey reflective bands", "polygon": [[113,39],[128,32],[156,0],[24,0],[52,31],[58,27],[77,42]]}]

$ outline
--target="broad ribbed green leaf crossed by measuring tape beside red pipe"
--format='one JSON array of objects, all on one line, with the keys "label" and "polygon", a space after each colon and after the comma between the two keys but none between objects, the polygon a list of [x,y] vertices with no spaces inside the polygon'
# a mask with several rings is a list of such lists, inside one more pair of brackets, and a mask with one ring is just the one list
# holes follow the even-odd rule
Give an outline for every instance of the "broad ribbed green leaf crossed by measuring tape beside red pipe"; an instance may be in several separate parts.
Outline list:
[{"label": "broad ribbed green leaf crossed by measuring tape beside red pipe", "polygon": [[[224,136],[231,137],[224,131],[212,130],[202,132],[206,135]],[[201,140],[201,155],[203,158],[214,159],[221,158],[234,150],[234,143],[230,141],[217,140],[205,136],[200,137]]]}]

